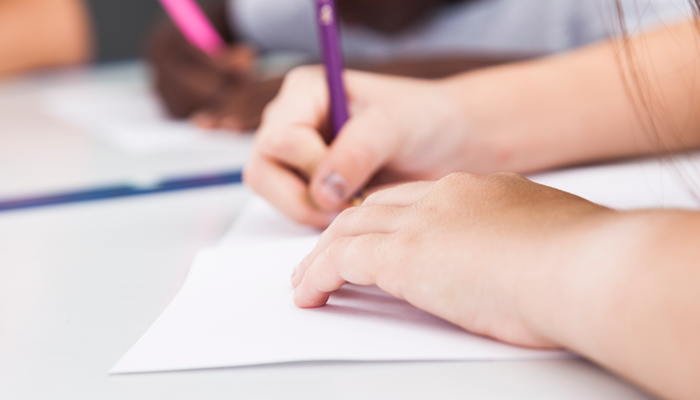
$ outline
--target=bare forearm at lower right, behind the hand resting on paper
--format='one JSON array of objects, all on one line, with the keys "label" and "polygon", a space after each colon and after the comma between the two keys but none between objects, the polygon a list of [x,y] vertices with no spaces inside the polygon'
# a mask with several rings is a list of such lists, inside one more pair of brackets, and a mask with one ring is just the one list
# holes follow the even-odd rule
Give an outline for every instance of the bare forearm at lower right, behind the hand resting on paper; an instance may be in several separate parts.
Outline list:
[{"label": "bare forearm at lower right, behind the hand resting on paper", "polygon": [[700,213],[610,213],[519,293],[535,330],[667,399],[700,398]]}]

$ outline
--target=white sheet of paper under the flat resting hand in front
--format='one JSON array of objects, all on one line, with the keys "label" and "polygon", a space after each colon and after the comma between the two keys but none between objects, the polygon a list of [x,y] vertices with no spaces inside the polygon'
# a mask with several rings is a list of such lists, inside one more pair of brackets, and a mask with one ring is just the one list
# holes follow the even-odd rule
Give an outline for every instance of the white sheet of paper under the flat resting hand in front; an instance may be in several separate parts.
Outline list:
[{"label": "white sheet of paper under the flat resting hand in front", "polygon": [[[697,171],[682,162],[682,170]],[[698,203],[658,161],[532,177],[616,208]],[[375,287],[346,285],[329,305],[300,310],[289,275],[318,232],[254,197],[215,248],[202,251],[172,303],[111,373],[299,361],[525,360],[569,356],[471,335]]]}]

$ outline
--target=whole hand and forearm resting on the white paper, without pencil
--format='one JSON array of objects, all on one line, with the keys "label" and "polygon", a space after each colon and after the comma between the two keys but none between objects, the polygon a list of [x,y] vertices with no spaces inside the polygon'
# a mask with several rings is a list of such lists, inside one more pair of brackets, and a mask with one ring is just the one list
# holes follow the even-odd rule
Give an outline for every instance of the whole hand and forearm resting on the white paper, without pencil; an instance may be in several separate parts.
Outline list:
[{"label": "whole hand and forearm resting on the white paper, without pencil", "polygon": [[346,210],[292,277],[318,307],[376,284],[464,329],[564,347],[700,398],[700,213],[617,212],[512,174],[458,173]]}]

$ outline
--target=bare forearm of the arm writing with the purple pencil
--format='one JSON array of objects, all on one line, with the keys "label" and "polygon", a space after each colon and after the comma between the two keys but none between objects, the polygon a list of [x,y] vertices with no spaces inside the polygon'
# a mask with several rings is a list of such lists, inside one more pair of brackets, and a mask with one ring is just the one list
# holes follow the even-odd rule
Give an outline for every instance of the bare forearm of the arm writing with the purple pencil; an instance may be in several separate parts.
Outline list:
[{"label": "bare forearm of the arm writing with the purple pencil", "polygon": [[631,39],[635,73],[611,41],[446,80],[458,130],[479,140],[466,141],[467,170],[527,173],[699,146],[695,35],[686,23]]}]

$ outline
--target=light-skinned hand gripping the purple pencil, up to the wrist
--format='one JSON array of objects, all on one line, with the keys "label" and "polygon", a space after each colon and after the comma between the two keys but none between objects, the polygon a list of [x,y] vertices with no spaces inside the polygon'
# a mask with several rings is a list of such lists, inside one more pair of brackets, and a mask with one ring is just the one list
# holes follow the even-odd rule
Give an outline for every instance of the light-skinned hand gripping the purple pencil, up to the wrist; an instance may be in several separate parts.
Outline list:
[{"label": "light-skinned hand gripping the purple pencil, up to the wrist", "polygon": [[353,71],[345,79],[352,117],[328,146],[323,69],[292,71],[265,111],[245,169],[256,192],[293,219],[321,228],[367,186],[438,179],[461,169],[467,146],[467,129],[441,81]]}]

